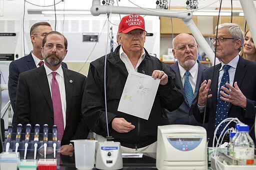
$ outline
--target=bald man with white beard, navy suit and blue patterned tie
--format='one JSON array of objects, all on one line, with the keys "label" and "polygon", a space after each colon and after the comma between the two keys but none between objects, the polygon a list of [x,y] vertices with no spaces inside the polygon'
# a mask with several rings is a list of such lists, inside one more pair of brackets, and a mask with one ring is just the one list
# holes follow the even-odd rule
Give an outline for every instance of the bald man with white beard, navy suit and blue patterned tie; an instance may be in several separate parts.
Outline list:
[{"label": "bald man with white beard, navy suit and blue patterned tie", "polygon": [[[168,116],[169,124],[184,124],[184,125],[201,125],[198,123],[192,113],[193,107],[197,107],[197,96],[200,87],[200,79],[203,70],[207,66],[200,64],[197,61],[198,46],[192,35],[180,33],[172,40],[172,53],[177,62],[170,67],[175,71],[180,91],[184,96],[184,102],[178,109],[169,112],[165,109]],[[189,82],[193,90],[191,103],[184,93],[185,72],[189,71]]]}]

